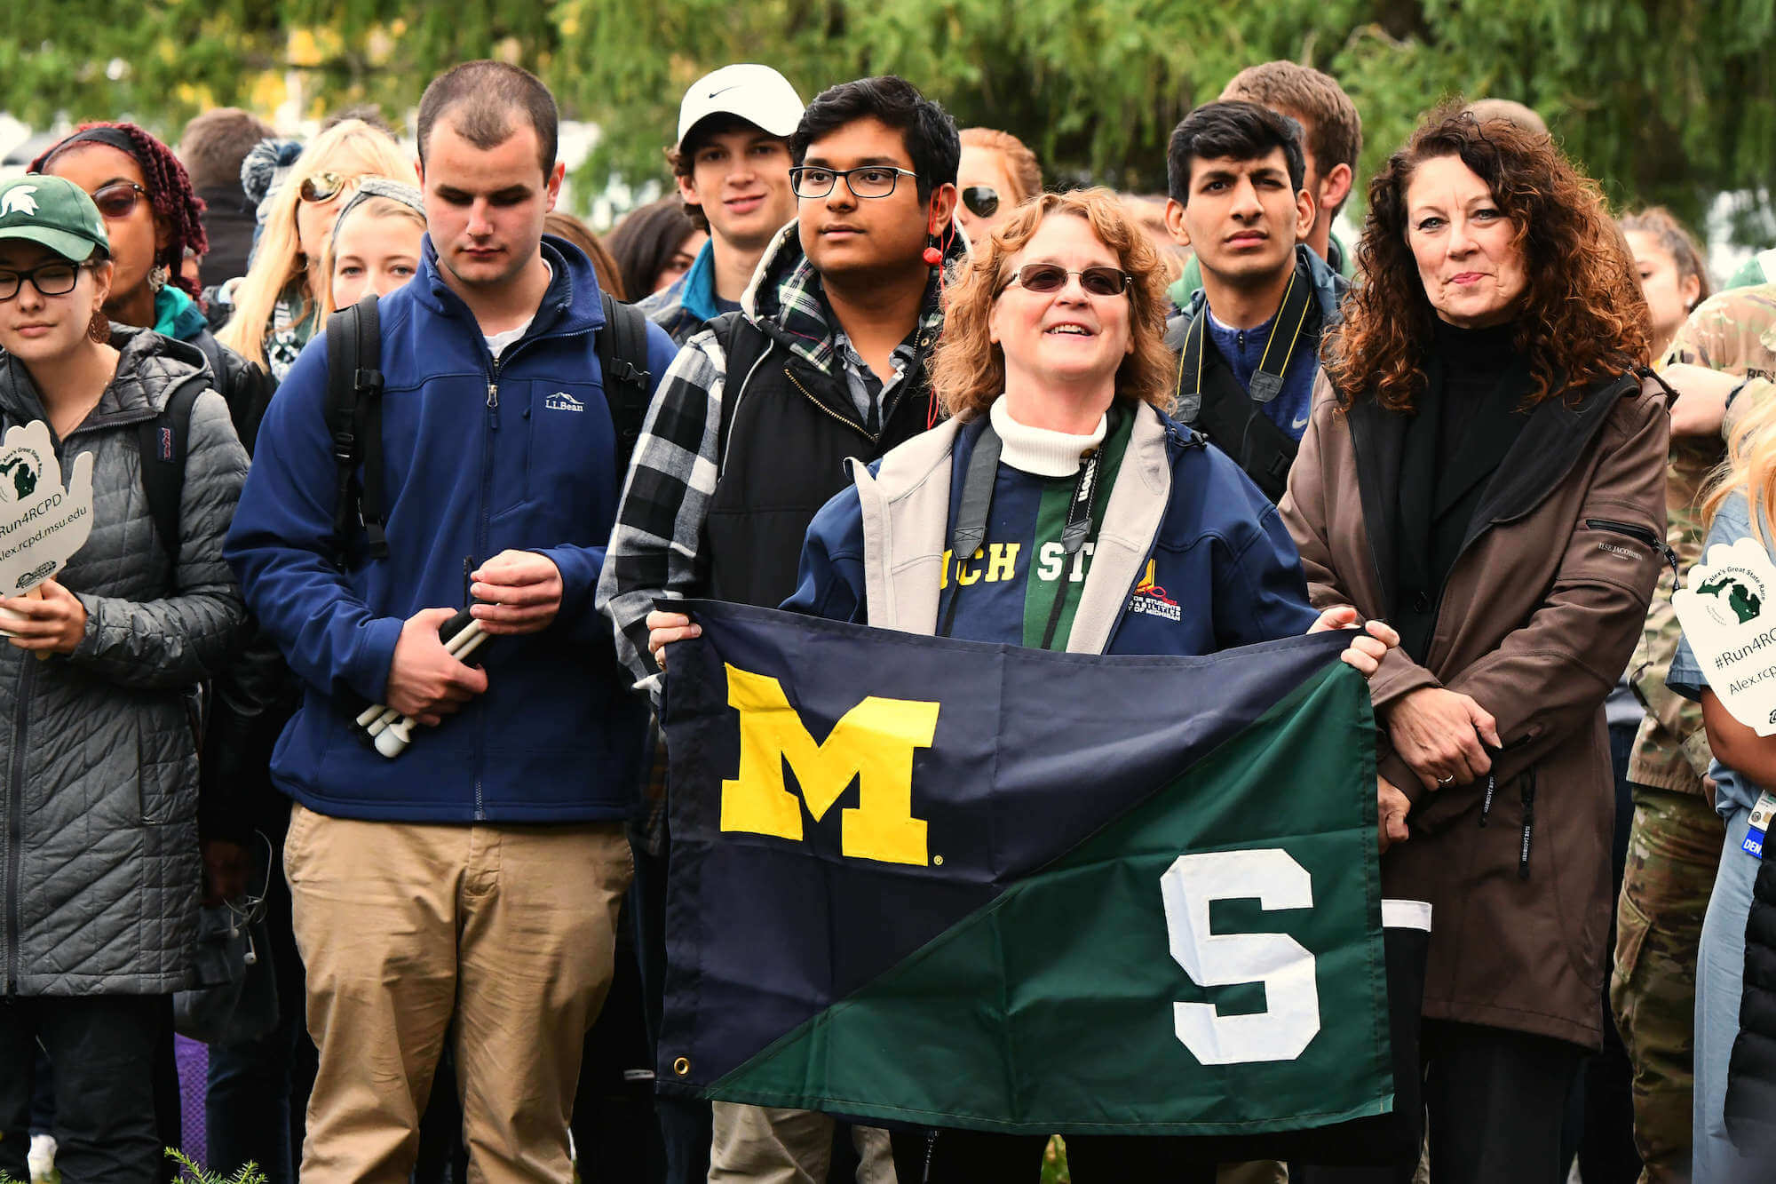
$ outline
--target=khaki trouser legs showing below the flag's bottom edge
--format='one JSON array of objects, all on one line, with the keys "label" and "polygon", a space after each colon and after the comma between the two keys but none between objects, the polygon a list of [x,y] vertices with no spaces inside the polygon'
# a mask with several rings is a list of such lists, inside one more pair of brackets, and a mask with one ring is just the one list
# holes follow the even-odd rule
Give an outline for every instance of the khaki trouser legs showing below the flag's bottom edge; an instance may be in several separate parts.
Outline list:
[{"label": "khaki trouser legs showing below the flag's bottom edge", "polygon": [[[716,1138],[709,1184],[828,1184],[833,1163],[833,1120],[808,1109],[776,1109],[716,1102]],[[888,1132],[852,1127],[858,1184],[895,1184]]]}]

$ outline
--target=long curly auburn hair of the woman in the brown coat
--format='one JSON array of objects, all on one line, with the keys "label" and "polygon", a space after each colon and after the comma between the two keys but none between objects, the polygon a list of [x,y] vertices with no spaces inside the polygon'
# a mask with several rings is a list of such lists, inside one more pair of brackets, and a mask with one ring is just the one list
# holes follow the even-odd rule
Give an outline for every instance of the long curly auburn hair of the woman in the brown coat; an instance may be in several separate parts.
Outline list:
[{"label": "long curly auburn hair of the woman in the brown coat", "polygon": [[1424,391],[1437,313],[1407,242],[1407,188],[1423,162],[1444,156],[1460,158],[1481,178],[1517,229],[1527,286],[1515,345],[1531,359],[1534,380],[1524,405],[1645,366],[1652,338],[1646,299],[1597,183],[1547,135],[1447,105],[1431,112],[1369,181],[1357,247],[1362,281],[1320,350],[1339,404],[1375,398],[1389,411],[1412,411]]}]

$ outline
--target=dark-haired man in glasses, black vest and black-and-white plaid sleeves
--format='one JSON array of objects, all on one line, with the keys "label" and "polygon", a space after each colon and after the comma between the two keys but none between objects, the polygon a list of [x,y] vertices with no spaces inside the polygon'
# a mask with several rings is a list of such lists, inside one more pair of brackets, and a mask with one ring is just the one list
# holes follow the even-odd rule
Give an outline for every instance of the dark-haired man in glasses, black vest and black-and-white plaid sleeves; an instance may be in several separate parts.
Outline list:
[{"label": "dark-haired man in glasses, black vest and black-and-white plaid sleeves", "polygon": [[[599,606],[638,686],[661,692],[650,628],[691,629],[655,597],[778,606],[808,523],[845,484],[936,418],[927,361],[943,325],[938,267],[961,258],[955,124],[902,78],[821,92],[790,137],[796,222],[767,249],[739,313],[691,338],[648,412]],[[643,916],[662,940],[659,804],[638,850]],[[652,889],[652,891],[650,891]],[[833,1122],[716,1106],[710,1180],[826,1180]],[[892,1177],[860,1129],[860,1180]]]}]

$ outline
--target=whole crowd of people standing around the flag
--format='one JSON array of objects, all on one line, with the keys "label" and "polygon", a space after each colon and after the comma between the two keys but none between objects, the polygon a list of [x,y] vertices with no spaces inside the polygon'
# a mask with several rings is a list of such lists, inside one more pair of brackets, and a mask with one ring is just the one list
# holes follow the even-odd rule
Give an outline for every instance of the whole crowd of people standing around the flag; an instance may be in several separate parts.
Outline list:
[{"label": "whole crowd of people standing around the flag", "polygon": [[0,1173],[170,1179],[178,1029],[188,1150],[272,1184],[1037,1180],[1043,1136],[654,1093],[698,635],[659,603],[716,597],[1082,654],[1350,631],[1384,887],[1435,917],[1424,1163],[1076,1134],[1080,1184],[1767,1179],[1776,740],[1673,590],[1772,546],[1776,252],[1716,293],[1502,100],[1428,110],[1343,242],[1360,117],[1291,62],[1154,146],[1163,203],[904,78],[733,64],[600,238],[556,135],[467,62],[417,162],[375,110],[224,108],[0,185],[0,427],[94,462],[87,544],[0,597]]}]

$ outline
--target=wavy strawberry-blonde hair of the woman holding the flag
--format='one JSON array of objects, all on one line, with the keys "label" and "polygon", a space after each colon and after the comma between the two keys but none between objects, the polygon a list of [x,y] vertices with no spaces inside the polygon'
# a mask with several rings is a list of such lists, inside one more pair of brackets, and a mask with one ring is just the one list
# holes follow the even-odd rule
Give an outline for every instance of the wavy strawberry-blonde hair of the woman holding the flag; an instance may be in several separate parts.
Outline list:
[{"label": "wavy strawberry-blonde hair of the woman holding the flag", "polygon": [[1115,372],[1117,398],[1172,405],[1177,361],[1165,348],[1165,263],[1122,199],[1103,187],[1043,194],[1027,203],[991,236],[975,244],[963,274],[950,284],[943,336],[932,356],[931,389],[945,412],[971,420],[1005,391],[1005,354],[989,340],[987,318],[1011,279],[1011,260],[1050,217],[1085,219],[1117,265],[1133,277],[1128,288],[1130,352]]}]

